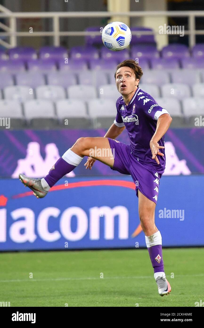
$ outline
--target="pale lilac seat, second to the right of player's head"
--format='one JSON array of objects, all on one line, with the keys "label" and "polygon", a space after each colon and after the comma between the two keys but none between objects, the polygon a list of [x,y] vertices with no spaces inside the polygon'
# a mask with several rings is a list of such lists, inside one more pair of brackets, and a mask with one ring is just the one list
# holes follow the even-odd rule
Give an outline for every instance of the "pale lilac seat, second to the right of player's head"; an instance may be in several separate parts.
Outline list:
[{"label": "pale lilac seat, second to the right of player's head", "polygon": [[200,82],[200,73],[195,70],[172,70],[170,73],[172,83],[192,85]]}]

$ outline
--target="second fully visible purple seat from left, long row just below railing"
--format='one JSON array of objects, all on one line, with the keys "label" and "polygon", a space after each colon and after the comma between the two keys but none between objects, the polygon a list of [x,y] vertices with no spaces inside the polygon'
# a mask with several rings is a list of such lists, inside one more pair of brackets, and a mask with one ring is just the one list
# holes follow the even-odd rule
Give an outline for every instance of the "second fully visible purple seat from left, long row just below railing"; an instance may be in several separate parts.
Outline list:
[{"label": "second fully visible purple seat from left, long row just below railing", "polygon": [[42,47],[39,50],[41,59],[64,59],[68,58],[68,52],[64,47]]}]

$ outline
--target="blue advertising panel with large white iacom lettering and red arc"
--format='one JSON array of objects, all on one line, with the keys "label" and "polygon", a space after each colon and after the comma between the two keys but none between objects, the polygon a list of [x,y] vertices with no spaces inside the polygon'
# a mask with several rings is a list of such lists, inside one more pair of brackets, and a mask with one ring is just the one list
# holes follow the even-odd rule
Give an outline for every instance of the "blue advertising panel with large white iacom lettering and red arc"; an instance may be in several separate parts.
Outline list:
[{"label": "blue advertising panel with large white iacom lettering and red arc", "polygon": [[[204,246],[204,175],[163,176],[155,221],[163,246]],[[132,178],[62,178],[43,199],[0,181],[0,250],[146,247]]]}]

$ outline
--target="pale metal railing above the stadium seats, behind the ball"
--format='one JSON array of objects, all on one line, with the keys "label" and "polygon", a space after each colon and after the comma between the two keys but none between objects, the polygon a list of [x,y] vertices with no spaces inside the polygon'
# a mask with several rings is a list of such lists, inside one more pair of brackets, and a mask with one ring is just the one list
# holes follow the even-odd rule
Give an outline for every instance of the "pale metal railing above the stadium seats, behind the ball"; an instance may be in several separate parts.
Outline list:
[{"label": "pale metal railing above the stadium seats, behind the ball", "polygon": [[[204,35],[204,30],[195,30],[195,17],[204,17],[204,10],[201,11],[129,11],[129,12],[110,12],[110,11],[74,11],[74,12],[12,12],[0,5],[0,18],[9,18],[9,26],[0,23],[0,37],[8,36],[9,43],[0,39],[0,44],[6,48],[13,48],[17,45],[18,36],[53,36],[54,46],[60,46],[61,36],[85,36],[101,35],[98,31],[60,31],[60,18],[90,18],[90,17],[111,17],[111,16],[167,16],[167,17],[188,17],[189,30],[185,30],[185,35],[189,35],[189,46],[195,45],[195,35]],[[16,20],[19,18],[52,18],[53,31],[42,32],[17,32]],[[152,35],[159,33],[157,31],[132,31],[132,35]],[[171,33],[170,33],[171,34]],[[172,33],[174,34],[174,33]]]}]

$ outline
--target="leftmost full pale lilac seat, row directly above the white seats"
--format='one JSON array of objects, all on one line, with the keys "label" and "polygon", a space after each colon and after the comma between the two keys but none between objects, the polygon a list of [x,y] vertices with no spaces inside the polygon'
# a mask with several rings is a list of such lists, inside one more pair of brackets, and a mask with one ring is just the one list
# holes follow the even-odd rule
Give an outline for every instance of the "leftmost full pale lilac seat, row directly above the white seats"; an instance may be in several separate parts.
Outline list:
[{"label": "leftmost full pale lilac seat, row directly above the white seats", "polygon": [[30,86],[36,88],[39,85],[45,85],[45,78],[40,72],[22,72],[15,76],[17,85]]}]

